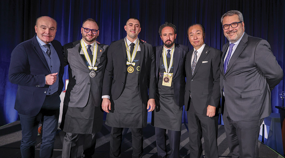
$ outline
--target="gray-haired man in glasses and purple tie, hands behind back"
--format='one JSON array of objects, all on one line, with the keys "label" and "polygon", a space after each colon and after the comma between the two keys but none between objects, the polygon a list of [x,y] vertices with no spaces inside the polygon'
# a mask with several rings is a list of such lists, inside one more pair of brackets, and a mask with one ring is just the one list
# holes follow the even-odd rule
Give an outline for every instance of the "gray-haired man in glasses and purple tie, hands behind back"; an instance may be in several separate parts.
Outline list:
[{"label": "gray-haired man in glasses and purple tie, hands behind back", "polygon": [[258,158],[258,136],[270,115],[270,91],[283,71],[269,43],[247,35],[242,13],[230,10],[221,17],[225,37],[220,66],[222,114],[232,158]]}]

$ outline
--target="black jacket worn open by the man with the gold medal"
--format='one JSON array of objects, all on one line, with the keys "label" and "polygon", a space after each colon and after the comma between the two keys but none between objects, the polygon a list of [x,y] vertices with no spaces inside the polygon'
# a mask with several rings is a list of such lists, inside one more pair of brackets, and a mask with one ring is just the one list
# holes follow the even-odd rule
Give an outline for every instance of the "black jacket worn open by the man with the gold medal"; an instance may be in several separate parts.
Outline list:
[{"label": "black jacket worn open by the man with the gold medal", "polygon": [[[155,52],[152,45],[140,41],[140,98],[147,104],[156,96]],[[104,73],[102,95],[116,100],[122,94],[126,80],[127,63],[124,39],[112,42],[107,51],[107,66]]]}]

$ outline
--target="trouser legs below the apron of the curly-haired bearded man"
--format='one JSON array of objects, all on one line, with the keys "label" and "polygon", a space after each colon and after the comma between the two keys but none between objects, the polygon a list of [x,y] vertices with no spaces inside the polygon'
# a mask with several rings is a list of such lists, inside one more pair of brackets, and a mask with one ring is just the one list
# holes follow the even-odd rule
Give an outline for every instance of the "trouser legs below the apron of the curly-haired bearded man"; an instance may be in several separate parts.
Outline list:
[{"label": "trouser legs below the apron of the curly-haired bearded man", "polygon": [[[170,158],[179,157],[179,147],[180,147],[180,136],[181,131],[167,130],[170,146]],[[156,148],[158,153],[158,158],[166,158],[166,129],[155,127],[155,137],[156,137]]]}]

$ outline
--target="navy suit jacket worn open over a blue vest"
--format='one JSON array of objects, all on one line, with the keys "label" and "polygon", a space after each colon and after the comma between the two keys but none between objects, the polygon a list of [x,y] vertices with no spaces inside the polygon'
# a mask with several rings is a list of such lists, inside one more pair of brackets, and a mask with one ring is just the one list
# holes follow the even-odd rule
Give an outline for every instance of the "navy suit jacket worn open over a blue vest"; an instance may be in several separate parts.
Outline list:
[{"label": "navy suit jacket worn open over a blue vest", "polygon": [[[60,94],[63,88],[64,72],[62,46],[56,40],[51,43],[61,63],[57,78],[59,80],[58,94]],[[49,87],[45,84],[45,76],[49,74],[51,72],[36,35],[16,46],[11,54],[9,80],[11,83],[18,84],[15,101],[15,109],[18,113],[30,116],[39,113]]]}]

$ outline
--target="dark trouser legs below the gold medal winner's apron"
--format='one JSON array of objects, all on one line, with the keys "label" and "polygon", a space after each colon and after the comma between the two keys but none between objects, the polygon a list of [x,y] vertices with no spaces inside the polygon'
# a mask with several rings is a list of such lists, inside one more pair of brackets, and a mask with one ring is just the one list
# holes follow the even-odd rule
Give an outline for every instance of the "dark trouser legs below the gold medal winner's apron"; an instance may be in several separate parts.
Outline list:
[{"label": "dark trouser legs below the gold medal winner's apron", "polygon": [[[123,128],[112,127],[111,139],[110,139],[110,157],[121,157],[121,145],[122,145],[122,132]],[[132,147],[133,158],[141,158],[143,156],[143,129],[131,128],[132,132]]]}]

